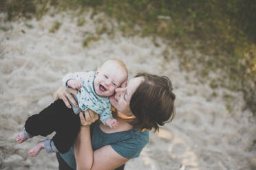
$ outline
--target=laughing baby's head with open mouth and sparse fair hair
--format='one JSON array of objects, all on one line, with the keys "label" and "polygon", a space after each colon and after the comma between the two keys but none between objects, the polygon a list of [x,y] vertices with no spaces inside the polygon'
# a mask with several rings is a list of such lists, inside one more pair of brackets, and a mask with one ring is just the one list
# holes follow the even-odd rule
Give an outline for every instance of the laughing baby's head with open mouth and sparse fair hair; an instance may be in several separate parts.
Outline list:
[{"label": "laughing baby's head with open mouth and sparse fair hair", "polygon": [[102,97],[114,95],[116,88],[127,80],[125,69],[119,64],[108,63],[100,67],[94,79],[95,93]]}]

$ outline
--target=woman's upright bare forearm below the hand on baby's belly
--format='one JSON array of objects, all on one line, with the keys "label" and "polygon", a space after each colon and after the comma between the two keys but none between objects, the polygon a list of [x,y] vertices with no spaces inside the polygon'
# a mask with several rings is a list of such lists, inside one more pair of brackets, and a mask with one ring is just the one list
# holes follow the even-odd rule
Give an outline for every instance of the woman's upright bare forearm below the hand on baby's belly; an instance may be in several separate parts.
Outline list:
[{"label": "woman's upright bare forearm below the hand on baby's belly", "polygon": [[94,152],[92,150],[89,125],[81,126],[81,130],[74,143],[76,169],[92,169]]}]

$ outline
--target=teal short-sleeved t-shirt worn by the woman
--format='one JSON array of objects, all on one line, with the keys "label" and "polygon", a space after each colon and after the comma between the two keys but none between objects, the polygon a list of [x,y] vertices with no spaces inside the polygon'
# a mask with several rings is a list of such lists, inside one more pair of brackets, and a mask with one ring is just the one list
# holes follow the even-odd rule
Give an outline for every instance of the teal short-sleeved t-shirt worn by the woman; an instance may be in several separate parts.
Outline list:
[{"label": "teal short-sleeved t-shirt worn by the woman", "polygon": [[[149,143],[149,130],[138,132],[131,129],[123,132],[115,132],[106,134],[100,130],[99,121],[91,125],[92,149],[96,150],[105,145],[111,147],[120,156],[125,158],[138,158],[142,149]],[[74,157],[74,147],[65,154],[61,154],[61,158],[67,162],[73,169],[76,169],[76,160]]]}]

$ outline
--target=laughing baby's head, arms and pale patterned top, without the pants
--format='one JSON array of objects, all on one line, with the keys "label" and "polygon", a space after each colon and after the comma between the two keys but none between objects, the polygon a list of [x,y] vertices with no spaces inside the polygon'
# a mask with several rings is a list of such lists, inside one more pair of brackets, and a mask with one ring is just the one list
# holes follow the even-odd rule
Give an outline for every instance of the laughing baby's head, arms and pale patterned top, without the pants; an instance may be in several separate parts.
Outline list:
[{"label": "laughing baby's head, arms and pale patterned top, without the pants", "polygon": [[[96,75],[95,79],[94,75]],[[117,121],[111,115],[108,97],[114,95],[116,88],[125,80],[127,80],[125,64],[120,60],[108,60],[96,73],[90,71],[67,74],[63,77],[63,85],[67,88],[79,90],[81,88],[77,95],[79,108],[72,105],[75,114],[89,108],[100,114],[100,121],[112,128],[117,125]]]}]

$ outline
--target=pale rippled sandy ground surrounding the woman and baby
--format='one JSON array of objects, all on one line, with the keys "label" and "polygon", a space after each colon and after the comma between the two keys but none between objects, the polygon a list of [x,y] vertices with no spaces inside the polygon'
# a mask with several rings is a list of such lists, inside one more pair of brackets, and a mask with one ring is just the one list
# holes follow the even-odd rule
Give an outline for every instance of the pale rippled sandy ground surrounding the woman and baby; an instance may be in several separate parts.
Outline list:
[{"label": "pale rippled sandy ground surrounding the woman and baby", "polygon": [[[63,75],[94,70],[109,58],[123,60],[131,76],[142,71],[167,75],[177,95],[175,119],[159,133],[151,132],[147,147],[126,169],[256,169],[256,120],[244,107],[242,94],[211,89],[195,73],[180,71],[178,51],[169,48],[170,60],[164,60],[166,45],[160,38],[158,46],[152,38],[126,38],[114,21],[103,14],[91,19],[89,12],[81,15],[85,18],[81,27],[78,16],[71,14],[12,23],[5,23],[3,16],[0,26],[8,31],[0,30],[0,169],[57,169],[54,154],[41,151],[36,158],[28,156],[43,137],[18,145],[15,136],[28,116],[52,102]],[[61,27],[50,33],[56,21]],[[103,25],[112,27],[114,36],[101,34],[99,40],[82,47],[84,38]],[[228,110],[227,96],[231,98]]]}]

